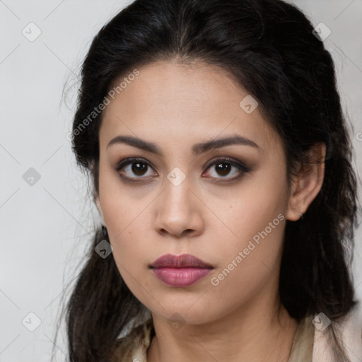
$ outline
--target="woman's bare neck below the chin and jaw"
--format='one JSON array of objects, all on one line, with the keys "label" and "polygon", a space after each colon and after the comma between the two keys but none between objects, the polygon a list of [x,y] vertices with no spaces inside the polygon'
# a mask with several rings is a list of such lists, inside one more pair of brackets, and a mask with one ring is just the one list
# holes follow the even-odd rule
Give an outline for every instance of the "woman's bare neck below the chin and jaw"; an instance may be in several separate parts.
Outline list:
[{"label": "woman's bare neck below the chin and jaw", "polygon": [[271,308],[267,303],[250,304],[218,320],[185,324],[177,330],[153,315],[156,336],[148,348],[147,362],[288,361],[298,323],[279,298]]}]

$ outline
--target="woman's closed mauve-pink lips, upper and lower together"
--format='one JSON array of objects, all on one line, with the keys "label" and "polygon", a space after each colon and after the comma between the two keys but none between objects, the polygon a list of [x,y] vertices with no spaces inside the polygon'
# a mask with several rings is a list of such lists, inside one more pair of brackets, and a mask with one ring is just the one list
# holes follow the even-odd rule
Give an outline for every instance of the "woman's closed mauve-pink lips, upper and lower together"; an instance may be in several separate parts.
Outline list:
[{"label": "woman's closed mauve-pink lips, upper and lower together", "polygon": [[160,281],[168,286],[189,286],[214,269],[210,264],[189,254],[159,257],[150,266]]}]

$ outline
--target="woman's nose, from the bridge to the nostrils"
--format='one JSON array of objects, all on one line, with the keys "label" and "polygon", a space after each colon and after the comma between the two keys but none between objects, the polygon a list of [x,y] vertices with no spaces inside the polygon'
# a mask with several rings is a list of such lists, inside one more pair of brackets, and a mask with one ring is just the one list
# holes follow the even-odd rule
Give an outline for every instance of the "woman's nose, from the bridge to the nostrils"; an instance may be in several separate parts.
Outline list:
[{"label": "woman's nose, from the bridge to the nostrils", "polygon": [[155,205],[155,230],[160,234],[170,234],[177,238],[202,234],[202,202],[195,196],[194,191],[189,189],[187,179],[178,186],[168,180],[165,184],[165,189]]}]

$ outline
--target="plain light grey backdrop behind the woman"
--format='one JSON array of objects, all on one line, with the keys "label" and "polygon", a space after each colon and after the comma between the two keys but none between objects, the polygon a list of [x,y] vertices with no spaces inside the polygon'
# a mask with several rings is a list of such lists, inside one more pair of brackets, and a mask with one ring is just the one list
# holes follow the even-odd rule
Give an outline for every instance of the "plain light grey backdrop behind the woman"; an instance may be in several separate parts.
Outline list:
[{"label": "plain light grey backdrop behind the woman", "polygon": [[[362,1],[293,3],[313,25],[322,22],[331,30],[325,45],[353,124],[361,180]],[[0,0],[0,362],[50,360],[60,303],[99,221],[66,134],[83,57],[100,27],[126,4]],[[359,228],[353,264],[359,300],[361,239]],[[59,334],[57,361],[64,361],[64,324]]]}]

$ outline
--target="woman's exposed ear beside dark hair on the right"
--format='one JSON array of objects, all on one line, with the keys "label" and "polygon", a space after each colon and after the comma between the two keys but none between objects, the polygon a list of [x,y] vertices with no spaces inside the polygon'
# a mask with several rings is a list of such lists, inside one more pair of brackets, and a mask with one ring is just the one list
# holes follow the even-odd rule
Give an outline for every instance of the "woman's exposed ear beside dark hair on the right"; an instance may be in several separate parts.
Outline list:
[{"label": "woman's exposed ear beside dark hair on the right", "polygon": [[323,184],[325,177],[325,144],[315,144],[308,150],[310,162],[302,165],[291,182],[286,219],[297,221],[305,214]]}]

